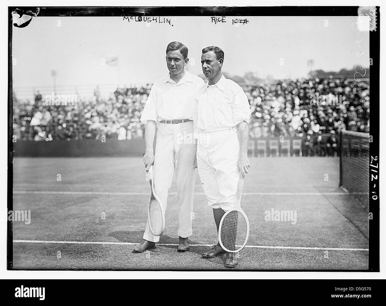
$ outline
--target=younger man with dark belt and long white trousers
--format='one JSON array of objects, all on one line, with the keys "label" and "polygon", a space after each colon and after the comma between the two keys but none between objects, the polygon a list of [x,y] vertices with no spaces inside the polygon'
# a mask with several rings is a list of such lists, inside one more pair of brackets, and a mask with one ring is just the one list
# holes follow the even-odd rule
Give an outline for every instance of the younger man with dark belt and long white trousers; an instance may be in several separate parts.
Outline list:
[{"label": "younger man with dark belt and long white trousers", "polygon": [[[188,71],[188,48],[180,42],[171,42],[166,48],[167,76],[156,81],[147,98],[141,122],[146,124],[146,171],[153,166],[155,192],[164,205],[174,173],[176,174],[179,218],[178,252],[189,250],[188,237],[192,235],[193,193],[196,171],[194,168],[196,143],[193,140],[193,104],[204,81]],[[157,130],[157,131],[156,131]],[[156,135],[156,150],[153,143]],[[152,235],[147,222],[144,241],[135,252],[155,247],[159,236]]]}]

